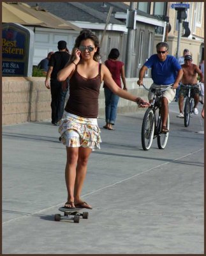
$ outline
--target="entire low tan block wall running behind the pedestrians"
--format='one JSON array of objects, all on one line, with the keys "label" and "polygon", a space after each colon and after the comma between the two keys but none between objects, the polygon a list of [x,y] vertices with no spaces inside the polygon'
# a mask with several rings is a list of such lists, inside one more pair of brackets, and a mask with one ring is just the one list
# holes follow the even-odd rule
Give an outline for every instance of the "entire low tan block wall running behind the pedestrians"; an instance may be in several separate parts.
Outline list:
[{"label": "entire low tan block wall running behind the pedestrians", "polygon": [[[129,92],[147,99],[147,91],[138,88],[136,78],[126,81]],[[2,77],[3,125],[50,120],[51,95],[44,82],[45,77]],[[151,79],[145,79],[144,82],[149,86]],[[118,113],[139,110],[135,102],[119,100]],[[99,95],[99,117],[105,117],[105,96],[102,86]]]}]

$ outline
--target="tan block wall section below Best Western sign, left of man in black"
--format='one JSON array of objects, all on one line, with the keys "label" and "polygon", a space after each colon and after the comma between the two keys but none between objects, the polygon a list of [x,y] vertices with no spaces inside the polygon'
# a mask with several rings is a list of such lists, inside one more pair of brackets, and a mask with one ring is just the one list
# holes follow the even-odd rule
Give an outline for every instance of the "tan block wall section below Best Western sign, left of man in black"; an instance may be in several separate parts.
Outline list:
[{"label": "tan block wall section below Best Western sign, left of man in black", "polygon": [[44,81],[44,77],[3,77],[3,125],[50,118],[50,90]]}]

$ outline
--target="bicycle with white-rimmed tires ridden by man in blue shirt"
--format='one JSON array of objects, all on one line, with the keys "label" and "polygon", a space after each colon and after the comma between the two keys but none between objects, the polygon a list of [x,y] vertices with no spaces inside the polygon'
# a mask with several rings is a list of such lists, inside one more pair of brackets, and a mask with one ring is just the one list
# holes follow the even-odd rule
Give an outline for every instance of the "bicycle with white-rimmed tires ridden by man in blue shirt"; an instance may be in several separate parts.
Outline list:
[{"label": "bicycle with white-rimmed tires ridden by man in blue shirt", "polygon": [[[158,139],[158,148],[164,149],[166,147],[166,143],[168,140],[169,132],[161,133],[161,95],[168,88],[172,88],[171,84],[166,88],[152,88],[151,90],[147,89],[143,84],[142,86],[147,91],[151,91],[154,93],[153,102],[151,106],[145,112],[143,116],[142,122],[142,148],[143,150],[149,150],[152,145],[152,141],[154,138]],[[159,109],[159,113],[157,115],[157,111]],[[158,117],[157,117],[158,116]],[[168,114],[166,127],[170,128],[170,116]]]}]

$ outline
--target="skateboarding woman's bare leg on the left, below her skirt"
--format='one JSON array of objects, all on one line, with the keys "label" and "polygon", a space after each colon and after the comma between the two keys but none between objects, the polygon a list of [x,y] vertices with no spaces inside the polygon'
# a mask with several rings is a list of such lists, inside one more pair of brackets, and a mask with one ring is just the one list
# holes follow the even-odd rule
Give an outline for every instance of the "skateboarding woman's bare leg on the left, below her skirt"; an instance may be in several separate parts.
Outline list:
[{"label": "skateboarding woman's bare leg on the left, below her skirt", "polygon": [[[66,168],[65,168],[65,181],[68,191],[68,202],[74,202],[74,189],[76,179],[76,168],[78,160],[78,148],[66,147]],[[73,203],[66,204],[67,207],[75,207]]]}]

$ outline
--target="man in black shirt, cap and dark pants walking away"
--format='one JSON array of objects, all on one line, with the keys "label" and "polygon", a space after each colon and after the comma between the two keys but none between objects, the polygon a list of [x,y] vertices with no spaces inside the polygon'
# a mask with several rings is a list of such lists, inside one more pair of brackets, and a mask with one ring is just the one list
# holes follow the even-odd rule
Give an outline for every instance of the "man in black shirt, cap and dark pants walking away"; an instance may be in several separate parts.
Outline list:
[{"label": "man in black shirt, cap and dark pants walking away", "polygon": [[63,117],[64,100],[66,97],[66,91],[63,91],[62,83],[57,81],[57,73],[70,60],[70,54],[67,51],[65,41],[58,42],[58,49],[59,51],[54,52],[49,60],[45,80],[45,86],[51,90],[52,124],[54,125],[57,125],[57,122]]}]

